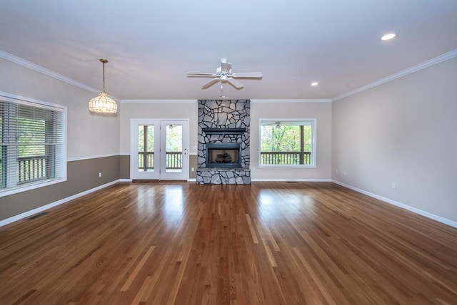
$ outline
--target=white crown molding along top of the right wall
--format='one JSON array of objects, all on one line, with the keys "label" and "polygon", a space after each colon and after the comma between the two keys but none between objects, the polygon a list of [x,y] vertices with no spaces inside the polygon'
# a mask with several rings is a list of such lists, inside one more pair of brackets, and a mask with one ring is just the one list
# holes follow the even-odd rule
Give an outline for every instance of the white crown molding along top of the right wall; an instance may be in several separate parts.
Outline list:
[{"label": "white crown molding along top of the right wall", "polygon": [[435,58],[431,58],[430,60],[424,61],[423,63],[419,63],[418,65],[412,66],[411,68],[407,68],[407,69],[405,69],[403,71],[400,71],[400,72],[397,72],[397,73],[393,73],[391,76],[387,76],[386,78],[381,78],[380,80],[375,81],[374,83],[370,83],[370,84],[368,84],[366,86],[363,86],[361,88],[358,88],[358,89],[356,89],[354,91],[338,95],[336,98],[332,98],[332,101],[335,102],[336,100],[341,100],[343,98],[347,98],[348,96],[356,95],[357,93],[361,93],[361,92],[366,91],[368,89],[380,86],[383,83],[388,83],[389,81],[393,81],[393,80],[395,80],[397,78],[401,78],[403,76],[407,76],[408,74],[420,71],[420,70],[428,68],[430,66],[434,66],[434,65],[436,65],[438,63],[442,63],[443,61],[448,61],[449,59],[454,58],[454,57],[457,57],[457,49],[453,50],[453,51],[450,51],[448,53],[444,53],[441,56],[437,56]]}]

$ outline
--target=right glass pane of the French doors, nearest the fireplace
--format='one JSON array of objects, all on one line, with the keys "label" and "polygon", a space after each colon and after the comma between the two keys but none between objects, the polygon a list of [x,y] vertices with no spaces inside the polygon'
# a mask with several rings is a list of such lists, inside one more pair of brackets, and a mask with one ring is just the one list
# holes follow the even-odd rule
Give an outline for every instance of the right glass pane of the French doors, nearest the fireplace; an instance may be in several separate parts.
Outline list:
[{"label": "right glass pane of the French doors, nearest the fireplace", "polygon": [[182,172],[183,126],[166,125],[166,172]]}]

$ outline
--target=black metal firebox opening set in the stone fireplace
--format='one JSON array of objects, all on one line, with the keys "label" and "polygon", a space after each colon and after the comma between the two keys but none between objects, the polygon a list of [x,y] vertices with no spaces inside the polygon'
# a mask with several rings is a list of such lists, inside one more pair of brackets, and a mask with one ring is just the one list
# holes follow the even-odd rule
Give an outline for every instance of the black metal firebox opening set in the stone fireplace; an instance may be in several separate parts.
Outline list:
[{"label": "black metal firebox opening set in the stone fireplace", "polygon": [[241,167],[240,143],[206,143],[206,167]]}]

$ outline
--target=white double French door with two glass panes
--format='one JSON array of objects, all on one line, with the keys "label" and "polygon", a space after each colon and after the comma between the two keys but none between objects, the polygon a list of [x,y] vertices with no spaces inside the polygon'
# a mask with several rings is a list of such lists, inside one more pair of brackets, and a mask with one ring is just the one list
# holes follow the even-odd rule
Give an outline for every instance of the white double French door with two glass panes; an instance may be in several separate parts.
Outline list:
[{"label": "white double French door with two glass panes", "polygon": [[132,119],[132,180],[187,180],[188,120]]}]

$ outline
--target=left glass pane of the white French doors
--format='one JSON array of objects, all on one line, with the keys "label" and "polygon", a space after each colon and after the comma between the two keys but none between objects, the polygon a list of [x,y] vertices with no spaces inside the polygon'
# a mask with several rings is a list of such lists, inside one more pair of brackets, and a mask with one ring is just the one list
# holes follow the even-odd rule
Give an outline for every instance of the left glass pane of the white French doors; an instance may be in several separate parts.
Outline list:
[{"label": "left glass pane of the white French doors", "polygon": [[138,171],[154,172],[154,125],[138,126]]}]

